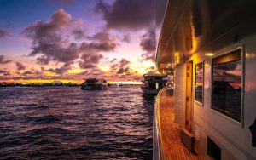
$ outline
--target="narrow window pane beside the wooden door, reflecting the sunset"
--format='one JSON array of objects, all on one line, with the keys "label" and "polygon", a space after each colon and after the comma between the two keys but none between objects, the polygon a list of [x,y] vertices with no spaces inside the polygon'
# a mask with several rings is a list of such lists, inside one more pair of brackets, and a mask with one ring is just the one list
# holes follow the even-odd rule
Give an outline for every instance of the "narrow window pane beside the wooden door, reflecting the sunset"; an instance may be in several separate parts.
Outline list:
[{"label": "narrow window pane beside the wooden door, reflecting the sunset", "polygon": [[195,65],[195,100],[203,103],[204,64]]}]

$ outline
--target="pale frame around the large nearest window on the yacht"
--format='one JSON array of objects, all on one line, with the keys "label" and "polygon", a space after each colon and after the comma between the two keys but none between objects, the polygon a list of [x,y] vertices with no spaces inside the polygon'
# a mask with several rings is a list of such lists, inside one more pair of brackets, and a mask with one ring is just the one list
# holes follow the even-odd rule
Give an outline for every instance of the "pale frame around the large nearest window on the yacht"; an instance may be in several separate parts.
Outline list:
[{"label": "pale frame around the large nearest window on the yacht", "polygon": [[[218,57],[224,56],[226,54],[230,54],[232,52],[236,52],[238,50],[241,50],[241,106],[240,106],[240,122],[237,121],[236,119],[234,119],[233,117],[230,117],[229,115],[224,114],[223,112],[218,111],[218,110],[212,108],[213,60],[218,58]],[[232,61],[234,61],[234,60],[230,60],[229,62],[232,62]],[[229,63],[229,62],[226,62],[226,63]],[[222,52],[220,54],[215,54],[215,55],[212,56],[212,60],[211,60],[211,79],[212,79],[211,80],[211,110],[216,112],[216,113],[218,113],[219,115],[229,119],[231,122],[238,123],[239,125],[241,125],[242,128],[244,128],[244,92],[245,92],[244,91],[244,89],[245,89],[245,47],[244,47],[244,45],[236,47],[235,49],[229,49],[228,51]]]}]

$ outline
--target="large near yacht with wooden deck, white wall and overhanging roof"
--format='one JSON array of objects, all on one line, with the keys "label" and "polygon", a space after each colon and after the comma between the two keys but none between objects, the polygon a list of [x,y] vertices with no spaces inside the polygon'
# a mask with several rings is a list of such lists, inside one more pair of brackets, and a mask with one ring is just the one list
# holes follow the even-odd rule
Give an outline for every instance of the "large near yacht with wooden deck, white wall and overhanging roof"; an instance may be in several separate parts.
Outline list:
[{"label": "large near yacht with wooden deck, white wall and overhanging roof", "polygon": [[168,1],[156,67],[174,76],[174,92],[156,100],[154,159],[256,159],[255,9]]}]

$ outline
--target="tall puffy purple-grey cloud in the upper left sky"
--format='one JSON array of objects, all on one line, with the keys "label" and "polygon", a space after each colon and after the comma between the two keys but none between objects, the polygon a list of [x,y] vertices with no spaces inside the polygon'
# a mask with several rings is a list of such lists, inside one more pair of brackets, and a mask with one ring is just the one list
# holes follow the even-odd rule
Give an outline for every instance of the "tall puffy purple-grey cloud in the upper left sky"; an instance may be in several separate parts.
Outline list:
[{"label": "tall puffy purple-grey cloud in the upper left sky", "polygon": [[74,21],[70,14],[59,9],[49,22],[37,21],[26,27],[24,33],[32,39],[32,52],[29,55],[44,54],[38,58],[38,62],[42,64],[49,63],[48,60],[70,64],[78,59],[77,43],[67,43],[67,39],[64,40],[61,35]]}]

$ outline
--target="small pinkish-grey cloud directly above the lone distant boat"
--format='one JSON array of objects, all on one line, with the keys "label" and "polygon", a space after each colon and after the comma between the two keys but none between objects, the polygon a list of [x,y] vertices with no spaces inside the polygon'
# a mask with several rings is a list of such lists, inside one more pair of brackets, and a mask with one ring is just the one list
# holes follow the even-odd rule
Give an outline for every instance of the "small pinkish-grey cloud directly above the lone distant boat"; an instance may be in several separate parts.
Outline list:
[{"label": "small pinkish-grey cloud directly above the lone distant boat", "polygon": [[79,61],[80,68],[96,68],[96,65],[103,58],[102,54],[83,54]]}]

